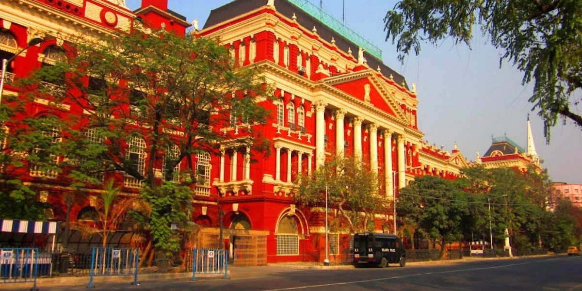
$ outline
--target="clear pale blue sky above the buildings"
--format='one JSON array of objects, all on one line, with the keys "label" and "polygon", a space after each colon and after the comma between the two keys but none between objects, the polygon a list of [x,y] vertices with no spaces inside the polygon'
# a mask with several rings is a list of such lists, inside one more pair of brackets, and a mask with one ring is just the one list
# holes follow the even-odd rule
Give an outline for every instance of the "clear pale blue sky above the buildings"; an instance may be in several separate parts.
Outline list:
[{"label": "clear pale blue sky above the buildings", "polygon": [[[275,0],[275,6],[276,2]],[[320,1],[310,0],[316,5]],[[230,0],[169,0],[168,8],[204,26],[210,10]],[[266,2],[266,0],[265,0]],[[140,0],[127,0],[128,8],[139,8]],[[566,120],[552,128],[550,144],[545,143],[542,120],[527,102],[532,84],[521,86],[523,74],[510,63],[499,68],[499,51],[486,37],[475,32],[471,49],[445,40],[437,47],[423,45],[419,56],[410,55],[404,64],[397,59],[395,45],[385,40],[384,16],[393,8],[392,0],[345,0],[346,25],[382,49],[386,65],[402,73],[408,84],[417,84],[418,126],[431,144],[459,150],[470,160],[491,144],[491,136],[507,136],[526,147],[527,113],[531,116],[535,147],[554,181],[582,183],[582,131]],[[322,0],[323,8],[342,19],[342,1]],[[576,93],[576,99],[582,93]],[[581,111],[581,105],[572,108]]]}]

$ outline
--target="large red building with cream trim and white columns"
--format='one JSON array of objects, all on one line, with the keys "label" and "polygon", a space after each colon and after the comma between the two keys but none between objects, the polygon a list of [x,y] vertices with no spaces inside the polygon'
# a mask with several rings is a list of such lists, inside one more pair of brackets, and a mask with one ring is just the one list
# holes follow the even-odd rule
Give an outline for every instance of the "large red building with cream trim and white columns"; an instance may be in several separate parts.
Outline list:
[{"label": "large red building with cream trim and white columns", "polygon": [[[43,62],[56,61],[51,52],[66,50],[67,40],[75,34],[152,26],[183,35],[189,27],[184,17],[168,10],[167,0],[143,0],[135,12],[123,2],[0,3],[0,58],[10,58],[32,36],[40,34],[45,39],[16,57],[4,94],[18,94],[11,81],[27,76]],[[235,260],[244,257],[250,264],[325,258],[324,210],[295,205],[292,189],[298,173],[313,172],[328,155],[341,152],[369,161],[386,185],[382,194],[389,198],[397,198],[397,189],[417,176],[455,179],[460,168],[467,166],[456,145],[448,152],[423,141],[417,126],[415,86],[409,87],[403,76],[382,63],[379,49],[339,22],[317,20],[311,14],[321,12],[314,6],[296,3],[233,1],[212,10],[203,29],[191,31],[199,37],[217,38],[230,49],[235,62],[257,66],[276,87],[276,101],[265,105],[273,112],[272,120],[261,129],[272,140],[268,157],[231,144],[222,144],[220,155],[197,157],[197,168],[203,169],[205,178],[193,193],[192,219],[201,226],[197,247],[225,244],[235,253]],[[33,110],[46,106],[48,102],[42,100],[30,104]],[[63,110],[70,107],[65,104]],[[237,126],[218,130],[238,134]],[[145,147],[137,141],[129,145],[139,157],[145,155]],[[256,162],[251,163],[251,155]],[[58,175],[31,169],[23,179],[36,185],[39,197],[51,203],[54,219],[62,221],[67,190],[59,185]],[[118,179],[126,192],[140,186],[139,181]],[[75,201],[70,212],[73,221],[91,219],[87,213],[96,191],[87,189],[87,194],[88,198]],[[221,213],[225,242],[218,242]],[[330,212],[330,218],[335,213]],[[393,219],[391,214],[386,210],[377,215],[378,231],[382,223]],[[118,233],[119,240],[129,240]],[[350,233],[340,230],[329,238],[331,260],[340,260],[349,248]]]}]

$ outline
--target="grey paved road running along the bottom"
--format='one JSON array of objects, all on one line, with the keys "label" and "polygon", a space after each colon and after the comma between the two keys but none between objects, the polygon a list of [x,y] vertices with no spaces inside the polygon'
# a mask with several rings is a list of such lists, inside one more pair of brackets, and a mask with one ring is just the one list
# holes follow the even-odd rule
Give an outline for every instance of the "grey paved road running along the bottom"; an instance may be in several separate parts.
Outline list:
[{"label": "grey paved road running along the bottom", "polygon": [[[448,264],[409,264],[406,268],[276,269],[249,272],[244,278],[143,281],[140,286],[100,284],[95,290],[582,290],[582,257],[477,260]],[[43,287],[44,290],[87,290]],[[2,288],[2,286],[0,286]],[[26,289],[22,289],[26,290]]]}]

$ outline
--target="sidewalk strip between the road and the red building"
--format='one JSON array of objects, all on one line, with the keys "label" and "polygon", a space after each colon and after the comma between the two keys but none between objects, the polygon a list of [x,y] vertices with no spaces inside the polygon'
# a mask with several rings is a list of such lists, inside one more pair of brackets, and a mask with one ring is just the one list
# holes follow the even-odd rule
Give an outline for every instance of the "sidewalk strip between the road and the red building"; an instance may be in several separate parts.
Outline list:
[{"label": "sidewalk strip between the road and the red building", "polygon": [[[535,256],[523,256],[523,257],[499,257],[499,258],[478,258],[478,257],[463,257],[460,260],[445,260],[445,261],[422,261],[422,262],[407,262],[407,266],[419,266],[419,265],[443,265],[443,264],[459,264],[468,261],[483,261],[483,260],[513,260],[515,258],[525,258],[525,257],[548,257],[552,255],[535,255]],[[558,254],[559,255],[559,254]],[[392,264],[391,267],[396,266]],[[354,269],[353,265],[329,265],[324,266],[321,262],[282,262],[268,264],[266,266],[258,267],[233,267],[228,266],[228,276],[229,279],[241,279],[241,278],[257,278],[262,276],[271,276],[276,274],[283,274],[289,272],[289,269],[299,270],[340,270],[340,269]],[[210,275],[196,275],[196,278],[208,278]],[[212,275],[215,278],[222,278],[221,276]],[[191,272],[182,273],[149,273],[149,274],[139,274],[137,276],[138,282],[147,281],[159,281],[159,280],[190,280],[192,278]],[[133,281],[133,276],[95,276],[93,282],[95,285],[100,283],[131,283]],[[44,286],[54,287],[54,286],[86,286],[89,282],[89,276],[81,277],[55,277],[55,278],[39,278],[37,280],[37,288],[42,288]],[[26,283],[5,283],[0,284],[0,289],[13,289],[27,286],[32,286],[32,282]]]}]

